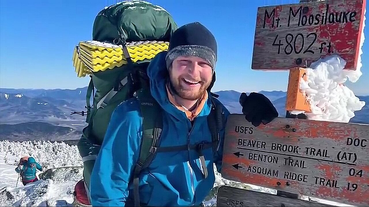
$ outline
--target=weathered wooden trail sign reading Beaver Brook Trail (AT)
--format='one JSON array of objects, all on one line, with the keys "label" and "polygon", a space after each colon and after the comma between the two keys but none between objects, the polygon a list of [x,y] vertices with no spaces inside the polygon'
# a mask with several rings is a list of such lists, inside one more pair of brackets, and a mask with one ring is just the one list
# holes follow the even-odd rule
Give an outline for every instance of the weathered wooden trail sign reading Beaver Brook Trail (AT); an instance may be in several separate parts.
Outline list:
[{"label": "weathered wooden trail sign reading Beaver Brook Trail (AT)", "polygon": [[369,125],[228,118],[222,176],[355,206],[369,205]]}]

